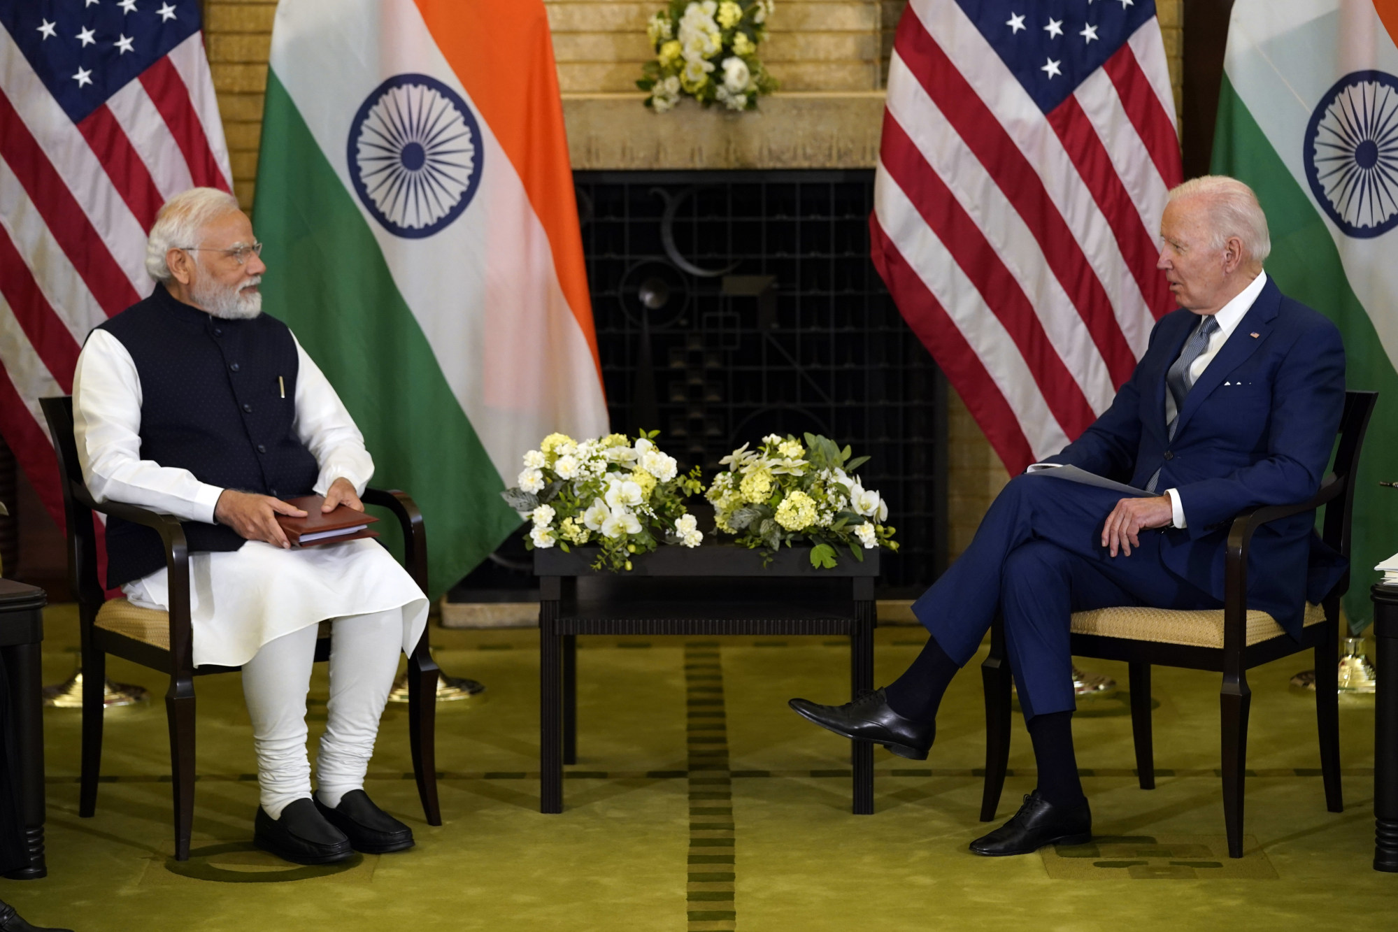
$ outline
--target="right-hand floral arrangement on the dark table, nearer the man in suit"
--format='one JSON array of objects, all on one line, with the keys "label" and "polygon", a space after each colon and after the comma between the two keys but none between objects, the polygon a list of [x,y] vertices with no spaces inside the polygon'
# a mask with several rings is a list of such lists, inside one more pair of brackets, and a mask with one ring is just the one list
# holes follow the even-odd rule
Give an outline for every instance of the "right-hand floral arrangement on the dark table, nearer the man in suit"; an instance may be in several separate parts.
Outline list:
[{"label": "right-hand floral arrangement on the dark table, nearer the man in suit", "polygon": [[762,548],[766,556],[793,541],[809,541],[811,565],[830,569],[836,548],[854,559],[864,551],[898,549],[888,520],[888,503],[851,474],[868,457],[850,458],[850,449],[828,437],[768,435],[762,446],[742,444],[720,460],[728,471],[714,476],[705,493],[713,503],[719,530],[738,535],[738,544]]}]

